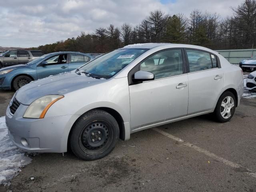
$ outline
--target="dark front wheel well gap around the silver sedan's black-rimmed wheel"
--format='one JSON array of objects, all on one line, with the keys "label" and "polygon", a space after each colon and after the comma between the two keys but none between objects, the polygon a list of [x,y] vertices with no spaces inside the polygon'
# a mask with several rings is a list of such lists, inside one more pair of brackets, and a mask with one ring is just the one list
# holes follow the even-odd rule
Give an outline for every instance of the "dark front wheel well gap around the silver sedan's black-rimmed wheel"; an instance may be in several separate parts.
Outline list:
[{"label": "dark front wheel well gap around the silver sedan's black-rimmed wheel", "polygon": [[[123,120],[123,118],[122,118],[122,116],[116,111],[116,110],[114,110],[114,109],[112,109],[112,108],[108,108],[108,107],[99,107],[99,108],[94,108],[94,109],[100,109],[100,110],[104,110],[104,111],[106,111],[106,112],[108,112],[110,115],[112,115],[115,119],[116,119],[116,121],[117,121],[117,123],[118,123],[118,126],[119,126],[119,132],[120,132],[120,134],[119,134],[119,138],[120,139],[122,139],[122,140],[124,140],[124,138],[125,138],[125,129],[124,129],[124,120]],[[91,110],[94,110],[94,109],[91,109]],[[86,113],[86,112],[85,112]],[[79,119],[79,118],[78,118]],[[78,120],[77,119],[77,120]],[[77,121],[76,120],[76,121]],[[75,124],[76,122],[74,122],[74,124]],[[73,124],[73,126],[74,126],[74,124]],[[70,129],[70,132],[69,132],[69,134],[68,134],[68,150],[70,149],[70,134],[71,134],[71,131],[72,131],[72,129],[73,129],[73,126],[72,126],[72,128]]]}]

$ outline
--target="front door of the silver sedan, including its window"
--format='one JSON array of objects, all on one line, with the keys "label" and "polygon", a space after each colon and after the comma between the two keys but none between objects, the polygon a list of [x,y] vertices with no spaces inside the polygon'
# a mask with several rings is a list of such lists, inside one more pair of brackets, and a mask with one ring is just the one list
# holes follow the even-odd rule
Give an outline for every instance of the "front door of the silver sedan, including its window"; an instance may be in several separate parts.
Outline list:
[{"label": "front door of the silver sedan, including its window", "polygon": [[129,86],[132,130],[187,115],[188,75],[182,58],[181,49],[163,50],[140,64],[155,80]]}]

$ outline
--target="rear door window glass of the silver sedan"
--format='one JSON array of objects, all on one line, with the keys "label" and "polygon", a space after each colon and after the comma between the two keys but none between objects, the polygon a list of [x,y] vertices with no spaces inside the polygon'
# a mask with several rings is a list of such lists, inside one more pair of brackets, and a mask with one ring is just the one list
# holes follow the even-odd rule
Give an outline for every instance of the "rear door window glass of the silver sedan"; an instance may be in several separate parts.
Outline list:
[{"label": "rear door window glass of the silver sedan", "polygon": [[[210,53],[198,50],[186,50],[190,72],[213,68]],[[216,58],[215,58],[216,60]]]}]

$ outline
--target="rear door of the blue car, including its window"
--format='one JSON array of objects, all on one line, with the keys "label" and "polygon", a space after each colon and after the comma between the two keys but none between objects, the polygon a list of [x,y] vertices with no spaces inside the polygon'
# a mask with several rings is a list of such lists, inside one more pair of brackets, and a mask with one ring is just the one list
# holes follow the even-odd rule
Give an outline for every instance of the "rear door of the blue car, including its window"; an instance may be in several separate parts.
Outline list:
[{"label": "rear door of the blue car, including its window", "polygon": [[70,62],[68,64],[68,71],[72,71],[77,69],[78,67],[86,64],[90,61],[90,57],[85,56],[83,54],[70,54]]}]

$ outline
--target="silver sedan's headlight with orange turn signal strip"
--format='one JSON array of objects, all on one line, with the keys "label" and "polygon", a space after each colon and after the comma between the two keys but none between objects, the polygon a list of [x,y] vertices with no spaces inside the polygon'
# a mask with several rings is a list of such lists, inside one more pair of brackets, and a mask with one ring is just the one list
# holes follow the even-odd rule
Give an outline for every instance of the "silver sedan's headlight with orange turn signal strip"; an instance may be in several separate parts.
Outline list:
[{"label": "silver sedan's headlight with orange turn signal strip", "polygon": [[63,95],[46,95],[33,101],[27,108],[23,118],[41,119],[56,101],[64,98]]}]

